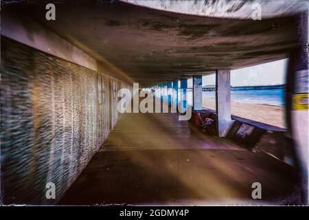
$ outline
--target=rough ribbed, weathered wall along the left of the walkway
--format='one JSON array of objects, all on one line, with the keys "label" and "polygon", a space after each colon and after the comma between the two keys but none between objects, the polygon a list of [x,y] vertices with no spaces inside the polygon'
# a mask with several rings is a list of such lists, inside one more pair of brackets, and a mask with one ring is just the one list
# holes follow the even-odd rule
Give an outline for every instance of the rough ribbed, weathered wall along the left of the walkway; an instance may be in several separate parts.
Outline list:
[{"label": "rough ribbed, weathered wall along the left of the walkway", "polygon": [[[1,37],[4,204],[62,197],[115,126],[119,85],[126,86]],[[56,199],[46,199],[47,182],[56,185]]]}]

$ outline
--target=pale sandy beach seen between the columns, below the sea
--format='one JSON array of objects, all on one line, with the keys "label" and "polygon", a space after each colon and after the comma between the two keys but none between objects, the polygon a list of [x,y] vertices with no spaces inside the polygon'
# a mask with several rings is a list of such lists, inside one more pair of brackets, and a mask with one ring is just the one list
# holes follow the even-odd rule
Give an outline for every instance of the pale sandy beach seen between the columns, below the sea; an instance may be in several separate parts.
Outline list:
[{"label": "pale sandy beach seen between the columns, below the sea", "polygon": [[[203,107],[207,109],[216,109],[216,100],[214,98],[203,98]],[[285,128],[284,107],[278,107],[268,104],[249,104],[231,102],[231,113],[242,118],[248,118],[257,122],[271,124]]]}]

